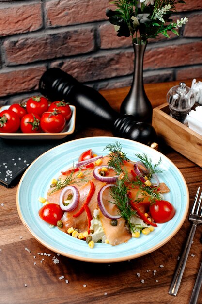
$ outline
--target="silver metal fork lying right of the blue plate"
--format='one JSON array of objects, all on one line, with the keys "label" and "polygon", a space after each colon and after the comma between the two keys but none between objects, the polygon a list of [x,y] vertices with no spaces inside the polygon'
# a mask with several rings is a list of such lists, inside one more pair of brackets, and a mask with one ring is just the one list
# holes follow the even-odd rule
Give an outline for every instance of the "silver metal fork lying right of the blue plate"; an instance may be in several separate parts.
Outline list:
[{"label": "silver metal fork lying right of the blue plate", "polygon": [[[193,203],[193,207],[191,209],[191,213],[189,214],[189,220],[191,220],[193,222],[193,224],[192,224],[189,236],[187,238],[183,254],[180,258],[179,265],[177,267],[174,278],[172,280],[171,288],[169,289],[169,294],[171,294],[173,296],[177,295],[178,289],[180,287],[180,282],[182,280],[182,276],[183,276],[183,273],[185,270],[186,261],[188,258],[189,251],[191,249],[196,227],[197,227],[197,225],[202,224],[202,208],[200,208],[200,204],[201,204],[201,200],[202,200],[202,192],[201,192],[200,198],[198,200],[199,190],[200,190],[200,187],[197,190],[197,193],[196,193],[196,196],[194,199],[194,203]],[[197,202],[197,200],[198,200],[198,202]]]}]

